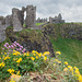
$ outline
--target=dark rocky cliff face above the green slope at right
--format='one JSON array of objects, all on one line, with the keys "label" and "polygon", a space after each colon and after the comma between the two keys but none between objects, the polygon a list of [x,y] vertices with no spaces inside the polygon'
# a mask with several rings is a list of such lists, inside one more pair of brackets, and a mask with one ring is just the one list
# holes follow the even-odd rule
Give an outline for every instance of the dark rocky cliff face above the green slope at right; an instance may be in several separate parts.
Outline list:
[{"label": "dark rocky cliff face above the green slope at right", "polygon": [[51,35],[54,38],[61,36],[62,38],[82,40],[82,26],[74,23],[48,24],[44,27],[43,32]]}]

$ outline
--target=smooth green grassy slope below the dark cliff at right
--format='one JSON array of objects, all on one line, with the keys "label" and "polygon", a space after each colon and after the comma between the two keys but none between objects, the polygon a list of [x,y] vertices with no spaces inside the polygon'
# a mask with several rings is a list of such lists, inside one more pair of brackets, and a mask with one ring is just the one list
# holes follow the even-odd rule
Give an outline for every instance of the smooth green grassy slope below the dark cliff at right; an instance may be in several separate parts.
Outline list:
[{"label": "smooth green grassy slope below the dark cliff at right", "polygon": [[50,39],[55,51],[61,51],[62,61],[68,61],[69,65],[75,66],[82,73],[82,40],[70,38]]}]

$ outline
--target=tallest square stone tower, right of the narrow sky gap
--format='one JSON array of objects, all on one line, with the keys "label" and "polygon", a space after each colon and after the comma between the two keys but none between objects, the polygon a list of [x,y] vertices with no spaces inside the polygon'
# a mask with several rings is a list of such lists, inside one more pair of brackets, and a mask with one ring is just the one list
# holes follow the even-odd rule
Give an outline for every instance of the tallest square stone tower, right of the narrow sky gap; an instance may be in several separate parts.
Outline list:
[{"label": "tallest square stone tower, right of the narrow sky gap", "polygon": [[34,27],[36,24],[36,7],[27,5],[26,7],[26,27]]}]

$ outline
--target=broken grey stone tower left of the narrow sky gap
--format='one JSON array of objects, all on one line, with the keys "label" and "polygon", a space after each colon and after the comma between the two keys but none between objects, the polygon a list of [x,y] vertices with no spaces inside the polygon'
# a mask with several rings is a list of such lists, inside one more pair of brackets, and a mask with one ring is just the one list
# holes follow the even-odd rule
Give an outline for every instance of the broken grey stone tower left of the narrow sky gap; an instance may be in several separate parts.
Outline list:
[{"label": "broken grey stone tower left of the narrow sky gap", "polygon": [[20,32],[22,31],[22,11],[19,9],[12,9],[12,23],[13,23],[13,31]]}]

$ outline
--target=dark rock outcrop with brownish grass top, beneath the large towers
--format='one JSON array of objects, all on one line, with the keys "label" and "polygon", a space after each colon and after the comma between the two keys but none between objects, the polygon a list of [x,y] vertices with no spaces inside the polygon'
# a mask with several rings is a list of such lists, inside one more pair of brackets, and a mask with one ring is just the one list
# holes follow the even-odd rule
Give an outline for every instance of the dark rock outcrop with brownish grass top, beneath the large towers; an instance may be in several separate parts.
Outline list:
[{"label": "dark rock outcrop with brownish grass top, beneath the large towers", "polygon": [[21,32],[13,32],[12,28],[7,30],[7,36],[11,42],[17,42],[27,51],[37,50],[38,52],[50,51],[50,56],[55,57],[52,45],[47,35],[44,35],[39,31],[23,30]]}]

